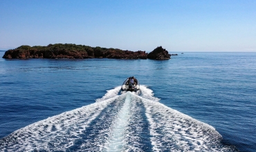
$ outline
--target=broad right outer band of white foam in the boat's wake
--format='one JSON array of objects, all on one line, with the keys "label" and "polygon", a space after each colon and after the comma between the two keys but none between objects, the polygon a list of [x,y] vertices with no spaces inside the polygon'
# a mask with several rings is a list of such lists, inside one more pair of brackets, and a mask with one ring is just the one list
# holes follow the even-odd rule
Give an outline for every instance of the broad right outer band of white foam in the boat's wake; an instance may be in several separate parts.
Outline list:
[{"label": "broad right outer band of white foam in the boat's wake", "polygon": [[221,144],[221,135],[212,126],[159,102],[142,101],[153,151],[235,151]]}]

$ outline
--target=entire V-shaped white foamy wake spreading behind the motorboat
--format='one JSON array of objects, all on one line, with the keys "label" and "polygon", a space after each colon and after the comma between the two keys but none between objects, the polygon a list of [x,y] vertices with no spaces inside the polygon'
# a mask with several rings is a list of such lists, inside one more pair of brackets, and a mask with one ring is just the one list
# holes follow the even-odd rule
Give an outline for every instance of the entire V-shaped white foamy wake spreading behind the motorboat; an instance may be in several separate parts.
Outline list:
[{"label": "entire V-shaped white foamy wake spreading behind the motorboat", "polygon": [[0,151],[237,151],[212,126],[158,102],[146,86],[119,91],[11,133]]}]

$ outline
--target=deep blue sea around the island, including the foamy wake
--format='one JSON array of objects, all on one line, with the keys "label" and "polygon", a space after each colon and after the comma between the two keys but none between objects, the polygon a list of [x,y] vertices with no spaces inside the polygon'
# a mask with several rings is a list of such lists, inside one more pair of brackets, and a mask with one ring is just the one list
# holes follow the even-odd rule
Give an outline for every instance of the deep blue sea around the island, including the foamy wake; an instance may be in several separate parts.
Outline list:
[{"label": "deep blue sea around the island, including the foamy wake", "polygon": [[256,53],[177,54],[1,58],[0,151],[256,151]]}]

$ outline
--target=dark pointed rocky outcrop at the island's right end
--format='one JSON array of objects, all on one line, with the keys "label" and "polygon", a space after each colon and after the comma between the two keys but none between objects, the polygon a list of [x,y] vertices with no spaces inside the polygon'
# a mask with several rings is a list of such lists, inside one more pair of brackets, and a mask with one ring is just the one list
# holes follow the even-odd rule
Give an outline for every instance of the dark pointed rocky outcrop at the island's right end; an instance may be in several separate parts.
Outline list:
[{"label": "dark pointed rocky outcrop at the island's right end", "polygon": [[168,53],[167,50],[162,48],[162,46],[158,46],[151,53],[147,55],[147,58],[163,60],[163,59],[170,59],[171,55]]}]

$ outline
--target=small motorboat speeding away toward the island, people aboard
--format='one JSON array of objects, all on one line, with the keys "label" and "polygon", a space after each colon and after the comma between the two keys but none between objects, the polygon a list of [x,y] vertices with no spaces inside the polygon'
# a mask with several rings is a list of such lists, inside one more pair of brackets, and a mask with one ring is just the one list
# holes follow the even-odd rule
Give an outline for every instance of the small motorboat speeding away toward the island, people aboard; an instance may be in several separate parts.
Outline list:
[{"label": "small motorboat speeding away toward the island, people aboard", "polygon": [[138,91],[140,90],[140,84],[135,77],[128,77],[125,82],[122,83],[122,91]]}]

